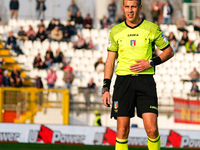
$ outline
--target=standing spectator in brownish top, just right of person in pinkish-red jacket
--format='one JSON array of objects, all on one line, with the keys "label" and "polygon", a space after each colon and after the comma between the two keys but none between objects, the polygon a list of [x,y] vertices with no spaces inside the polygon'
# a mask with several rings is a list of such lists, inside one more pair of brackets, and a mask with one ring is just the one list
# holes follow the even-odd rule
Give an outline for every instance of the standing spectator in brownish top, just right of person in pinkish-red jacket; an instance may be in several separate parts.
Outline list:
[{"label": "standing spectator in brownish top, just right of person in pinkish-red jacket", "polygon": [[64,76],[63,76],[63,81],[65,82],[65,88],[70,90],[73,80],[74,80],[73,69],[71,69],[71,67],[68,66],[64,70]]}]

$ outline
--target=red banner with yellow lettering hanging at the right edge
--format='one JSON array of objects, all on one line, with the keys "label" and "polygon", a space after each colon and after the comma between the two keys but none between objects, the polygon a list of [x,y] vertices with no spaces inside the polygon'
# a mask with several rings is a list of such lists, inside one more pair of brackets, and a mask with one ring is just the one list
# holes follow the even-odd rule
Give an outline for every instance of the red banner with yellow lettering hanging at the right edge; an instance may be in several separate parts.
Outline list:
[{"label": "red banner with yellow lettering hanging at the right edge", "polygon": [[200,124],[200,101],[174,97],[174,122]]}]

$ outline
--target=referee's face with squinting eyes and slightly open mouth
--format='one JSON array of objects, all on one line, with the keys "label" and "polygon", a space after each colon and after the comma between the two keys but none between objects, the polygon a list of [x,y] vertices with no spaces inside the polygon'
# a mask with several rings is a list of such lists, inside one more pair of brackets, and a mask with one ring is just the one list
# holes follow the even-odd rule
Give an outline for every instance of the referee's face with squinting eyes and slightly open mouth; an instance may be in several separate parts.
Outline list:
[{"label": "referee's face with squinting eyes and slightly open mouth", "polygon": [[139,23],[139,12],[142,9],[142,5],[139,6],[137,0],[125,0],[124,1],[124,13],[126,20],[129,23],[138,24]]}]

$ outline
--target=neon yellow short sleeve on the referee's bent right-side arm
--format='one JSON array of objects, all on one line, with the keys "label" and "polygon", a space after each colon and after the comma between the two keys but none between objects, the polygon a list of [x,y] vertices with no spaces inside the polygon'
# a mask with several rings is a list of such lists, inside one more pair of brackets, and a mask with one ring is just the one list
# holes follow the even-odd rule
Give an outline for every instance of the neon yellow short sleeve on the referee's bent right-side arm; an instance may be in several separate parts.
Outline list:
[{"label": "neon yellow short sleeve on the referee's bent right-side arm", "polygon": [[158,26],[155,32],[155,45],[160,50],[164,50],[169,46],[169,41],[167,37],[164,35],[164,33],[160,30]]}]

